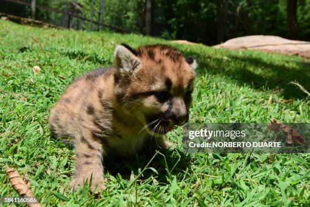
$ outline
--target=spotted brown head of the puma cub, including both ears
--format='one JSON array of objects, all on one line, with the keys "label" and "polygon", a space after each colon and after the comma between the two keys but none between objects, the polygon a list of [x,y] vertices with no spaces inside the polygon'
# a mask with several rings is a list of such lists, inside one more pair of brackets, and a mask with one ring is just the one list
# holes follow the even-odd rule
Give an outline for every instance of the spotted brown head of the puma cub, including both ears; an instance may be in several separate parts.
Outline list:
[{"label": "spotted brown head of the puma cub, including both ears", "polygon": [[114,51],[114,65],[117,99],[144,125],[143,129],[160,135],[188,120],[197,67],[194,58],[184,58],[165,45],[136,51],[119,45]]}]

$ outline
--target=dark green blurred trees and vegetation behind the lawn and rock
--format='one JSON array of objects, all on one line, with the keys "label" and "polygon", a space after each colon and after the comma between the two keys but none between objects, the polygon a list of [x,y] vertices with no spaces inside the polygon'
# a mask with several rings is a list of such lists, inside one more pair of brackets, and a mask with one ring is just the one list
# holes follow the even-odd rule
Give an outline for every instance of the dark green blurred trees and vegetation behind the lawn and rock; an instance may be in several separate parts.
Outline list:
[{"label": "dark green blurred trees and vegetation behind the lawn and rock", "polygon": [[[93,16],[97,21],[98,13],[92,14],[91,2],[36,0],[36,5],[70,11],[88,19]],[[0,12],[31,17],[28,6],[6,1],[0,4]],[[215,45],[240,36],[265,34],[310,41],[310,0],[105,0],[104,5],[105,24],[168,40]],[[100,8],[99,0],[95,0],[94,9]],[[61,13],[37,9],[35,19],[68,27],[68,17]],[[69,27],[94,30],[97,25],[70,17]]]}]

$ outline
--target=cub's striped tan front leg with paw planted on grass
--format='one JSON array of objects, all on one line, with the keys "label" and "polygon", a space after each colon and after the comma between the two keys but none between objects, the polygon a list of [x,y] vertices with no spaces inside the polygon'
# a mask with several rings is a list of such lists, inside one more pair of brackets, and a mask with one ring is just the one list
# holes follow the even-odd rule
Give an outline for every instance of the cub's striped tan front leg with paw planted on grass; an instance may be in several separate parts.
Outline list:
[{"label": "cub's striped tan front leg with paw planted on grass", "polygon": [[82,133],[75,141],[76,164],[75,173],[70,186],[78,189],[83,187],[86,179],[88,184],[92,177],[92,189],[105,189],[103,184],[103,143],[91,132]]}]

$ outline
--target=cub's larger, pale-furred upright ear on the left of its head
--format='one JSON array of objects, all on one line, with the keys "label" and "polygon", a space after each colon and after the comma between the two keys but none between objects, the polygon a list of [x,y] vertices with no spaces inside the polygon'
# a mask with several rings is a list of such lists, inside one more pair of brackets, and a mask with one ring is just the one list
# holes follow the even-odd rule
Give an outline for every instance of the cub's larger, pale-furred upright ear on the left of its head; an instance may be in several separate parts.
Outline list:
[{"label": "cub's larger, pale-furred upright ear on the left of its head", "polygon": [[114,66],[121,76],[131,75],[140,65],[141,60],[136,56],[136,51],[128,45],[118,45],[114,50]]}]

